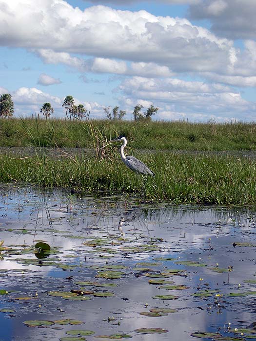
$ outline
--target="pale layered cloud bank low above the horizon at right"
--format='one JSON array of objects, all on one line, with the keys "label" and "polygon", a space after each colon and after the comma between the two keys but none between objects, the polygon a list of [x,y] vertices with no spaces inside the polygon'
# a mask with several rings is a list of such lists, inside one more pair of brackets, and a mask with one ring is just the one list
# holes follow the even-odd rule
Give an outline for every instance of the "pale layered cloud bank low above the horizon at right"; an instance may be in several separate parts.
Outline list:
[{"label": "pale layered cloud bank low above the horizon at right", "polygon": [[[224,120],[237,117],[254,119],[256,103],[221,84],[188,82],[179,79],[132,77],[119,86],[123,104],[132,107],[147,100],[160,108],[158,118]],[[168,116],[169,113],[169,116]],[[182,114],[180,114],[182,113]]]}]

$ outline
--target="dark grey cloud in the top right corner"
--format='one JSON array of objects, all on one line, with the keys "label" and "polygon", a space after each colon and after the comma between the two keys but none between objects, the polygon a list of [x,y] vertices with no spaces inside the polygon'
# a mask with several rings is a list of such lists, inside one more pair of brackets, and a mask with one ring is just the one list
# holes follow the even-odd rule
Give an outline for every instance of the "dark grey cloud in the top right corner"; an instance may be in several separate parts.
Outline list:
[{"label": "dark grey cloud in the top right corner", "polygon": [[220,37],[255,39],[255,0],[201,0],[192,4],[193,19],[210,19],[211,30]]}]

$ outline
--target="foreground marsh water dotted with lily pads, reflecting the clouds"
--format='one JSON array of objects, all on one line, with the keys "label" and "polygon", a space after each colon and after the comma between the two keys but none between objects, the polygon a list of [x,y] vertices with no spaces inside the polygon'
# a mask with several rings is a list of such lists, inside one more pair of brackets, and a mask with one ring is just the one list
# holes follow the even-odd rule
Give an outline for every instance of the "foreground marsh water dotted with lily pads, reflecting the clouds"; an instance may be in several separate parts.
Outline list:
[{"label": "foreground marsh water dotted with lily pads, reflecting the clouds", "polygon": [[1,341],[256,339],[256,208],[0,185],[0,240]]}]

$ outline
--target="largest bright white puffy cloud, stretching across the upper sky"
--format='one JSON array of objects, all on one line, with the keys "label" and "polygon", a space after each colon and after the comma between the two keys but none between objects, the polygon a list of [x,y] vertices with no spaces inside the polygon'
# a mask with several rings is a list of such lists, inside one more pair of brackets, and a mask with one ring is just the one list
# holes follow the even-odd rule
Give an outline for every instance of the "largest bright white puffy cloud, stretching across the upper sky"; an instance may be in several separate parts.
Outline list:
[{"label": "largest bright white puffy cloud, stretching across the upper sky", "polygon": [[84,67],[81,58],[71,56],[79,53],[157,63],[173,72],[213,72],[230,64],[233,43],[187,19],[102,5],[81,11],[64,0],[41,0],[40,5],[33,0],[0,0],[0,5],[0,43],[33,49],[45,61]]}]

